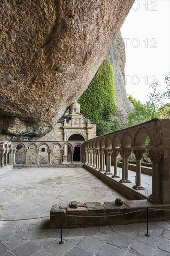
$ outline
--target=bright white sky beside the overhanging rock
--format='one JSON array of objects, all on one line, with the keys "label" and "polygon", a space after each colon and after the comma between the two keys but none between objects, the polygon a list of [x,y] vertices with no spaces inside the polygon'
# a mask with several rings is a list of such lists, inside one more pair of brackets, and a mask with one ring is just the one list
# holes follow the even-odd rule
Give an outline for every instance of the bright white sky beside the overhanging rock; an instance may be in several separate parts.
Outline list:
[{"label": "bright white sky beside the overhanging rock", "polygon": [[170,0],[135,0],[121,27],[125,42],[126,92],[145,103],[149,84],[160,91],[170,72]]}]

